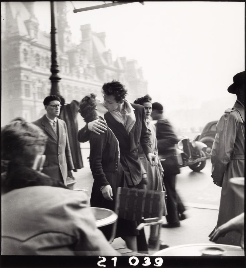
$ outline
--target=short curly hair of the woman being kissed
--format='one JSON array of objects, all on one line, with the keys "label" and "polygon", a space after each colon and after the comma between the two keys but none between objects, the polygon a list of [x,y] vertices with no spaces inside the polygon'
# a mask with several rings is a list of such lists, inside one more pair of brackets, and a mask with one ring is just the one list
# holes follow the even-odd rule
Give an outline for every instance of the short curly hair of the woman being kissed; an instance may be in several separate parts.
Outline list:
[{"label": "short curly hair of the woman being kissed", "polygon": [[84,118],[86,123],[89,123],[97,118],[96,111],[96,95],[91,93],[90,95],[85,96],[79,103],[78,112]]}]

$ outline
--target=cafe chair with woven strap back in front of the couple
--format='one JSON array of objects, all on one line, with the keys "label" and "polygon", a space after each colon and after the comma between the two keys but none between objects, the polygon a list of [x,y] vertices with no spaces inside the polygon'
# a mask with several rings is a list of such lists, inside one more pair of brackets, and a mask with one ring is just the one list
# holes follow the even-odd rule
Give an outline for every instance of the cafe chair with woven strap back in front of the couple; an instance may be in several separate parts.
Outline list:
[{"label": "cafe chair with woven strap back in front of the couple", "polygon": [[159,250],[162,216],[167,214],[165,192],[136,188],[118,188],[115,213],[120,219],[140,222],[137,230],[141,230],[148,225],[157,225],[155,249]]}]

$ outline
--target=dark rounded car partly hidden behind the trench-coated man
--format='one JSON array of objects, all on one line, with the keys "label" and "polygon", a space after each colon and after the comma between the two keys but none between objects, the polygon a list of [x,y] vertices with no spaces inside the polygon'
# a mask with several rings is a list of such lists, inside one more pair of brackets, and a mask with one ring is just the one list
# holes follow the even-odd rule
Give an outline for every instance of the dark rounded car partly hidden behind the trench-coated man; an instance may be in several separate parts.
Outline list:
[{"label": "dark rounded car partly hidden behind the trench-coated man", "polygon": [[206,126],[204,126],[202,133],[197,134],[196,137],[194,138],[195,141],[203,142],[208,146],[207,148],[208,153],[210,153],[212,149],[213,141],[214,141],[215,134],[216,134],[217,123],[218,123],[218,120],[209,122]]}]

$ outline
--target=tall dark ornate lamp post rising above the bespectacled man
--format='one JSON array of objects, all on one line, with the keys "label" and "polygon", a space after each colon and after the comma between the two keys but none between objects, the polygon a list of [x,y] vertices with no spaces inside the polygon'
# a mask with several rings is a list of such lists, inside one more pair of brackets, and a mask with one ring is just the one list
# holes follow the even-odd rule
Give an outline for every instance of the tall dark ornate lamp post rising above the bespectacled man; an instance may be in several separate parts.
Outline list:
[{"label": "tall dark ornate lamp post rising above the bespectacled man", "polygon": [[58,75],[59,69],[58,69],[58,63],[57,63],[57,53],[56,53],[56,27],[55,27],[55,10],[54,10],[54,2],[50,2],[50,15],[51,15],[51,90],[50,95],[56,95],[61,96],[61,93],[59,91],[59,81],[61,80],[61,77]]}]

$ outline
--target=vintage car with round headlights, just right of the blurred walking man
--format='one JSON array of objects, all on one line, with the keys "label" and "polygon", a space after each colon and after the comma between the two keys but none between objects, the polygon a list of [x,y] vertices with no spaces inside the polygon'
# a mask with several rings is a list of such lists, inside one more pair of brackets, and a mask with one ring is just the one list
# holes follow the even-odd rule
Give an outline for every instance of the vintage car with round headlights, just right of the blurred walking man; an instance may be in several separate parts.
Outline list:
[{"label": "vintage car with round headlights, just right of the blurred walking man", "polygon": [[175,147],[179,167],[188,166],[193,171],[199,172],[205,167],[206,160],[210,158],[205,143],[190,140],[188,137],[180,138]]}]

